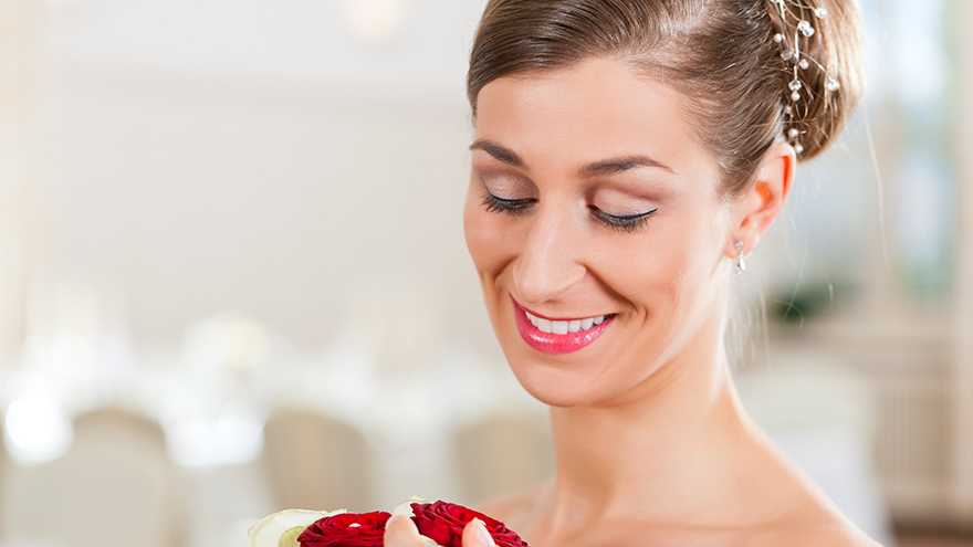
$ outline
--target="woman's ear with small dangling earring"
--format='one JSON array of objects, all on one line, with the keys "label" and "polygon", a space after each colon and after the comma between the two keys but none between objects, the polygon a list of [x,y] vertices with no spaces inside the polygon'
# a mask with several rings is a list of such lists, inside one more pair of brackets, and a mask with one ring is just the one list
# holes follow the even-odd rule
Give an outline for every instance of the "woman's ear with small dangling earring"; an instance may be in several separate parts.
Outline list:
[{"label": "woman's ear with small dangling earring", "polygon": [[784,208],[791,183],[794,180],[794,167],[797,154],[787,143],[777,143],[764,155],[756,170],[755,180],[737,198],[733,204],[731,241],[726,245],[726,255],[736,259],[734,248],[742,241],[741,251],[750,253],[761,235],[771,227],[771,222]]}]

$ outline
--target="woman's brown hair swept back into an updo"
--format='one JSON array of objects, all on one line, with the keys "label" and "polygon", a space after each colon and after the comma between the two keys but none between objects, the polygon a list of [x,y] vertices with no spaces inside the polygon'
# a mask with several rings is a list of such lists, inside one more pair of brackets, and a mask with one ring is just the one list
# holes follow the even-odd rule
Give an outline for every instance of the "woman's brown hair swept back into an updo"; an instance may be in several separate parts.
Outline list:
[{"label": "woman's brown hair swept back into an updo", "polygon": [[[491,81],[569,67],[586,59],[631,63],[680,92],[700,122],[694,137],[723,169],[729,194],[744,190],[764,154],[797,129],[799,160],[820,154],[861,95],[861,23],[855,0],[786,0],[813,36],[788,28],[778,0],[490,0],[470,55],[467,93]],[[817,19],[814,10],[827,17]],[[804,90],[792,101],[793,64],[777,33],[805,57]],[[839,88],[830,91],[828,78]],[[833,86],[834,87],[834,86]],[[786,114],[792,106],[791,115]]]}]

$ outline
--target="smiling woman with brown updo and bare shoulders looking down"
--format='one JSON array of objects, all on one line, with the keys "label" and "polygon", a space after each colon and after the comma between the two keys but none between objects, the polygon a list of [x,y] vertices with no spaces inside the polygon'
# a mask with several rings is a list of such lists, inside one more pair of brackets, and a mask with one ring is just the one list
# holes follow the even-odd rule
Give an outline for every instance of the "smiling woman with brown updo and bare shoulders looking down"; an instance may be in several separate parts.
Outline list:
[{"label": "smiling woman with brown updo and bare shoulders looking down", "polygon": [[[467,243],[557,457],[482,509],[533,547],[875,545],[746,415],[722,336],[734,271],[857,102],[858,18],[852,0],[486,6]],[[386,545],[423,538],[396,517]]]}]

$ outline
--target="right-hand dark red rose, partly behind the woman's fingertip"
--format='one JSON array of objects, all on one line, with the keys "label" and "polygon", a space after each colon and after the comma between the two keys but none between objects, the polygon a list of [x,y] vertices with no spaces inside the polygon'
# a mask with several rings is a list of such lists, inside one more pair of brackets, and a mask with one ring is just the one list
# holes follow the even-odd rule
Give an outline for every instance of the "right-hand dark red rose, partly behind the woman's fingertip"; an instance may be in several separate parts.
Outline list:
[{"label": "right-hand dark red rose, partly behind the woman's fingertip", "polygon": [[527,547],[516,534],[500,520],[453,503],[414,503],[412,522],[419,534],[433,539],[442,547],[462,547],[463,527],[473,518],[483,520],[498,547]]}]

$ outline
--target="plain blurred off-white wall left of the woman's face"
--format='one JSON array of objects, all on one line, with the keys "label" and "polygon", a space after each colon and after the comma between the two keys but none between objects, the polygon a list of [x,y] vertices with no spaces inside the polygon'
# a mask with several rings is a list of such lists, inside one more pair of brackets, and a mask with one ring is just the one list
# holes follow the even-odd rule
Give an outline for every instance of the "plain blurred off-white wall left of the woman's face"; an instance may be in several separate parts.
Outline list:
[{"label": "plain blurred off-white wall left of the woman's face", "polygon": [[321,346],[390,277],[492,347],[461,227],[481,4],[401,2],[384,43],[334,0],[50,6],[55,274],[144,344],[233,308]]}]

